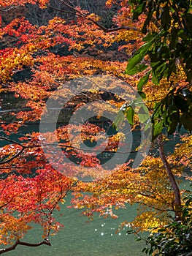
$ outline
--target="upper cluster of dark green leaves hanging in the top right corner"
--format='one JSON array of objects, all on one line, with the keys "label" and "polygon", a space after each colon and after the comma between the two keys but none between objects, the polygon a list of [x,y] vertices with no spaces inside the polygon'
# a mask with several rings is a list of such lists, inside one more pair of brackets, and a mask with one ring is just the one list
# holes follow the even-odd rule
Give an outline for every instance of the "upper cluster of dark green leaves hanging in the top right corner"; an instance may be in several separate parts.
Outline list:
[{"label": "upper cluster of dark green leaves hanging in the top right corner", "polygon": [[[148,66],[139,64],[144,56],[150,57],[153,83],[158,84],[162,78],[168,78],[177,72],[177,61],[180,60],[185,69],[188,82],[192,80],[192,3],[191,1],[139,0],[130,1],[134,14],[147,15],[142,32],[147,34],[145,42],[134,56],[129,59],[126,73],[133,75]],[[158,32],[147,31],[150,23],[157,26]],[[139,82],[139,90],[147,82],[149,73]]]}]

